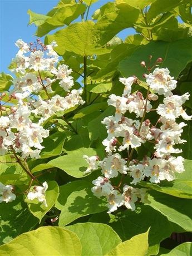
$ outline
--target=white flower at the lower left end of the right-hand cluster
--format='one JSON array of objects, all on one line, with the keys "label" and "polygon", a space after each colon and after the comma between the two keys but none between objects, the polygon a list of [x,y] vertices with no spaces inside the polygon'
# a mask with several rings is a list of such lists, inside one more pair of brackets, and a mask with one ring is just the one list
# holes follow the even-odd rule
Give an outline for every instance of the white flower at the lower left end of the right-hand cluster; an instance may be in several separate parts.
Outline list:
[{"label": "white flower at the lower left end of the right-hand cluster", "polygon": [[97,198],[109,195],[114,189],[110,184],[110,180],[101,176],[99,176],[96,180],[93,180],[92,184],[95,186],[91,188],[91,191],[95,196],[97,196]]}]

